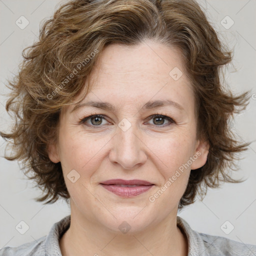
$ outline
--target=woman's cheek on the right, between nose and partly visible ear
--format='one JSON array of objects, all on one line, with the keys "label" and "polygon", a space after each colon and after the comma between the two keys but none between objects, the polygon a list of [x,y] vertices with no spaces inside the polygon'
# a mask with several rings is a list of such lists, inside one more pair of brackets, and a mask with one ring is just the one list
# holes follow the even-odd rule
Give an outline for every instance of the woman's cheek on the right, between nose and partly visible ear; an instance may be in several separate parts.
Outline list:
[{"label": "woman's cheek on the right, between nose and partly visible ear", "polygon": [[158,203],[164,205],[168,212],[174,204],[178,204],[186,189],[190,174],[190,165],[187,162],[191,156],[192,143],[187,136],[172,136],[158,142],[158,146],[153,144],[152,151],[157,153],[157,169],[162,179],[151,199],[161,197]]}]

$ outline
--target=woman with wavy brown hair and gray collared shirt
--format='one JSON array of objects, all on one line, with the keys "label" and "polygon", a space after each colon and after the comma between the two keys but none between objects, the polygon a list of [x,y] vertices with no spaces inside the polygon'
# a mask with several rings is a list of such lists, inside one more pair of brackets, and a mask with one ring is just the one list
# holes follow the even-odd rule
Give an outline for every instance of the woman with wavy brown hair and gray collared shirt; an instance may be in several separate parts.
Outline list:
[{"label": "woman with wavy brown hair and gray collared shirt", "polygon": [[0,255],[256,255],[177,217],[203,186],[235,182],[225,169],[247,144],[227,121],[248,94],[223,91],[230,60],[191,0],[57,9],[10,83],[17,122],[1,136],[13,142],[6,158],[33,171],[38,200],[66,198],[71,215]]}]

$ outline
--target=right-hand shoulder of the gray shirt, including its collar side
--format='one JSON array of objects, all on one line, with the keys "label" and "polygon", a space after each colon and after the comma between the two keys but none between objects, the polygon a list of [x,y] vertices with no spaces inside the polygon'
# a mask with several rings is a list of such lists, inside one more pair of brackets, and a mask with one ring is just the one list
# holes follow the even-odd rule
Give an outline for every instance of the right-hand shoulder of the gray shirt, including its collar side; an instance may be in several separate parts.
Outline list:
[{"label": "right-hand shoulder of the gray shirt, including its collar side", "polygon": [[177,216],[177,226],[188,240],[188,256],[255,256],[256,245],[234,241],[222,236],[197,232]]}]

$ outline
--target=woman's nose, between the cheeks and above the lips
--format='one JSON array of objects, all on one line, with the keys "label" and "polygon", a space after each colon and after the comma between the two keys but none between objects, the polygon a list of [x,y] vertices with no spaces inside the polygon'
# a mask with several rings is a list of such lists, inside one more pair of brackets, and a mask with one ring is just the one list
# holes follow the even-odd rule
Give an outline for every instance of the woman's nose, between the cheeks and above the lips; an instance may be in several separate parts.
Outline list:
[{"label": "woman's nose, between the cheeks and above the lips", "polygon": [[110,162],[120,164],[124,169],[134,169],[142,165],[147,159],[146,145],[141,140],[135,124],[126,131],[117,127],[116,133],[109,152]]}]

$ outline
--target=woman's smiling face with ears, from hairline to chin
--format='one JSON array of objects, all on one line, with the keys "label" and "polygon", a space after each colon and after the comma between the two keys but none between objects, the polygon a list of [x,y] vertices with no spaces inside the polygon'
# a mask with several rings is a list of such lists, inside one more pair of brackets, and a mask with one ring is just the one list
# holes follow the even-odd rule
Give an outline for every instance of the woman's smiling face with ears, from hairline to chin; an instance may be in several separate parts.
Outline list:
[{"label": "woman's smiling face with ears, from hairline to chin", "polygon": [[[89,93],[62,109],[49,157],[61,162],[71,215],[113,231],[126,221],[134,232],[176,217],[190,169],[207,157],[205,142],[196,140],[194,96],[180,56],[151,41],[110,44]],[[109,179],[151,185],[107,185]]]}]

